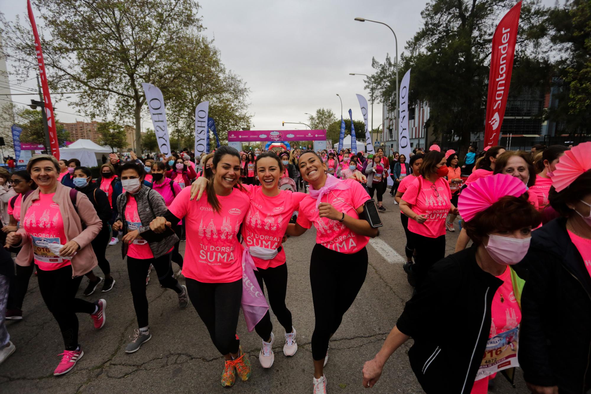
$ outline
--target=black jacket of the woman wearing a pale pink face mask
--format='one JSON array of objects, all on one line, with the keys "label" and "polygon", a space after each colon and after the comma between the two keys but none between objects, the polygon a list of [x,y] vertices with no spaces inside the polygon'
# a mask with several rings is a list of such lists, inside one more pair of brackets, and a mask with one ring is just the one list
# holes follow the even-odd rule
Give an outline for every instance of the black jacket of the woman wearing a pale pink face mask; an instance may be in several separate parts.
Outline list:
[{"label": "black jacket of the woman wearing a pale pink face mask", "polygon": [[437,261],[398,318],[398,330],[413,337],[408,359],[427,394],[470,393],[482,361],[503,282],[475,254],[473,246]]}]

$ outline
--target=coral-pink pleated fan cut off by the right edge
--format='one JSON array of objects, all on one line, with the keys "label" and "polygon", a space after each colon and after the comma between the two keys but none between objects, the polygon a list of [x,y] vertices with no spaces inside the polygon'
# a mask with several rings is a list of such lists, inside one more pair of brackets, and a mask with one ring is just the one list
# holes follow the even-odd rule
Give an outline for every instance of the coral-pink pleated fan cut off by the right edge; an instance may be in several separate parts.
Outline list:
[{"label": "coral-pink pleated fan cut off by the right edge", "polygon": [[586,142],[564,152],[552,176],[552,186],[557,192],[566,189],[582,173],[591,169],[591,142]]}]

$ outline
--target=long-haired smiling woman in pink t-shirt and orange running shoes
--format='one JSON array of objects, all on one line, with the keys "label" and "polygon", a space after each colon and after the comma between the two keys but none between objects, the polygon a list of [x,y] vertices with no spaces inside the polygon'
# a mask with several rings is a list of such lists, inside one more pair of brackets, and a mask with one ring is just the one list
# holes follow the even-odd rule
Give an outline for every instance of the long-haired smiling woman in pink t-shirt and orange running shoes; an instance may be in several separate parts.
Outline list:
[{"label": "long-haired smiling woman in pink t-shirt and orange running shoes", "polygon": [[213,154],[213,182],[207,184],[207,193],[194,200],[191,189],[183,189],[168,211],[150,224],[155,232],[163,232],[180,219],[185,221],[183,275],[191,303],[225,358],[222,386],[232,386],[236,374],[243,381],[251,374],[248,355],[236,336],[242,301],[238,231],[251,205],[248,194],[239,188],[240,168],[235,148],[217,148]]}]

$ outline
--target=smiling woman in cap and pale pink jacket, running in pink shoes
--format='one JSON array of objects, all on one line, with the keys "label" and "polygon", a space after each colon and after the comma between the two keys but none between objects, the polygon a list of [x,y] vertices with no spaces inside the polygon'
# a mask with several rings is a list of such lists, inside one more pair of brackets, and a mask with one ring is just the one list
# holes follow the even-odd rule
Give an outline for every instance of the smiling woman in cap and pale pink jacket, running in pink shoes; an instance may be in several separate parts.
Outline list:
[{"label": "smiling woman in cap and pale pink jacket, running in pink shoes", "polygon": [[22,201],[22,227],[8,234],[7,243],[22,246],[18,265],[37,264],[41,296],[64,340],[63,357],[53,372],[57,376],[72,370],[84,355],[78,343],[76,313],[89,314],[96,329],[105,325],[104,299],[92,303],[75,298],[82,277],[97,264],[90,241],[102,224],[84,193],[57,181],[60,166],[55,157],[33,156],[27,172],[38,189]]}]

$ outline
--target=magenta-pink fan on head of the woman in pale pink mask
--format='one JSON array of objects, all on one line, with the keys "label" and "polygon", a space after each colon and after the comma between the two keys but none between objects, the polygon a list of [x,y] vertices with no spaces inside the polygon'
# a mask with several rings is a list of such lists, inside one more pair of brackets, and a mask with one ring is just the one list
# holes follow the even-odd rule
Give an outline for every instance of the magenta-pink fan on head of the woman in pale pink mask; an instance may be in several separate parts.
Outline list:
[{"label": "magenta-pink fan on head of the woman in pale pink mask", "polygon": [[504,196],[521,196],[527,191],[521,180],[508,174],[496,174],[480,178],[462,190],[457,199],[457,209],[462,219],[470,221],[478,212],[499,201]]}]

